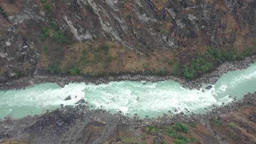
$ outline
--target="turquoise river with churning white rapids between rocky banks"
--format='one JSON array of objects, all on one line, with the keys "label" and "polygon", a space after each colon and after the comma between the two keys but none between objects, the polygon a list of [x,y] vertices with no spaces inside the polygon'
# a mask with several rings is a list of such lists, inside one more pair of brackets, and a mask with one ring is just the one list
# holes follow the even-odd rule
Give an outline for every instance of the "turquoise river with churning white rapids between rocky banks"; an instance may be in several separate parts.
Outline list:
[{"label": "turquoise river with churning white rapids between rocky banks", "polygon": [[[60,88],[55,83],[38,84],[25,90],[0,91],[0,119],[43,113],[46,109],[59,108],[61,104],[74,105],[80,99],[92,108],[104,108],[111,113],[121,110],[133,116],[157,117],[163,113],[177,113],[185,108],[203,113],[204,108],[231,102],[234,96],[256,91],[256,63],[245,70],[224,74],[210,90],[190,90],[174,81],[147,82],[120,81],[109,84],[72,83]],[[71,95],[72,99],[64,99]],[[76,98],[75,98],[76,97]]]}]

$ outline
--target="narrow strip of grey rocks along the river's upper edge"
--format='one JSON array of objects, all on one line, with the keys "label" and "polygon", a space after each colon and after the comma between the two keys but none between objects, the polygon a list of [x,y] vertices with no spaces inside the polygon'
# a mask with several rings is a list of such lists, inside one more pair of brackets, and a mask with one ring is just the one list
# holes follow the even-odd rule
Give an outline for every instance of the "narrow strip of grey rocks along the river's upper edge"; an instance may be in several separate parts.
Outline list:
[{"label": "narrow strip of grey rocks along the river's upper edge", "polygon": [[81,83],[85,82],[101,84],[109,83],[110,81],[165,81],[174,80],[182,84],[185,88],[200,89],[202,84],[214,84],[218,81],[224,73],[229,71],[235,71],[238,69],[246,69],[251,63],[256,63],[256,56],[247,57],[242,61],[225,62],[218,68],[210,73],[202,75],[200,78],[196,78],[191,81],[187,81],[184,78],[178,78],[174,76],[154,76],[154,75],[136,75],[136,74],[120,74],[116,76],[91,76],[85,78],[83,76],[71,76],[71,75],[56,75],[49,74],[48,72],[37,72],[33,76],[25,76],[16,80],[10,80],[4,83],[0,83],[0,90],[9,89],[21,89],[27,86],[33,86],[40,83]]}]

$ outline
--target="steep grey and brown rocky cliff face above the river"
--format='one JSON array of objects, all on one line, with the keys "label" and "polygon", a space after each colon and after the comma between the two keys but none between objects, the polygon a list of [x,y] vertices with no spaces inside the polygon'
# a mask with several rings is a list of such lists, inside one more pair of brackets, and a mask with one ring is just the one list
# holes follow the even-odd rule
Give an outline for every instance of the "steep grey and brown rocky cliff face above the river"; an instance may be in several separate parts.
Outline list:
[{"label": "steep grey and brown rocky cliff face above the river", "polygon": [[212,45],[255,49],[255,0],[0,0],[0,81],[35,70],[172,73]]}]

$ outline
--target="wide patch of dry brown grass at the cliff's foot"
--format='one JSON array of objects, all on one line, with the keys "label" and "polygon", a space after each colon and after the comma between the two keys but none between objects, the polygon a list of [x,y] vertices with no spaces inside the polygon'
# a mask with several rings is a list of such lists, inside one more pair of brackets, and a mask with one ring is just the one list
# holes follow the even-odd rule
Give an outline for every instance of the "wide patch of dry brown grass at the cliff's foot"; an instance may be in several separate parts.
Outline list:
[{"label": "wide patch of dry brown grass at the cliff's foot", "polygon": [[[173,52],[171,50],[157,49],[152,52],[151,56],[146,54],[137,54],[135,51],[123,47],[118,42],[107,42],[110,49],[104,52],[99,49],[102,43],[77,43],[70,46],[64,56],[61,65],[64,69],[67,65],[75,65],[78,63],[83,73],[102,74],[102,73],[120,73],[120,72],[158,72],[164,69],[166,72],[172,72],[172,65],[166,60],[173,60]],[[87,64],[81,61],[82,51],[86,51],[85,55]],[[108,62],[108,57],[112,57]]]}]

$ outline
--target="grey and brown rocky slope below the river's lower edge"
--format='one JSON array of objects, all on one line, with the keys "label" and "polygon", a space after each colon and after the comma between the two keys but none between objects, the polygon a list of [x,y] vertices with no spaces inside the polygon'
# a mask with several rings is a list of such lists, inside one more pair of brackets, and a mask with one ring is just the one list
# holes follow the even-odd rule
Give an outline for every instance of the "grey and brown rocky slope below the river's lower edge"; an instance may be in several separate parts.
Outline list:
[{"label": "grey and brown rocky slope below the river's lower edge", "polygon": [[190,144],[256,144],[256,93],[206,114],[165,114],[144,120],[103,109],[90,110],[80,101],[75,107],[65,106],[34,117],[7,117],[0,121],[0,144],[164,144],[175,142],[175,136],[166,132],[168,127],[180,125],[177,122],[189,129],[175,130],[179,135],[196,139]]}]

